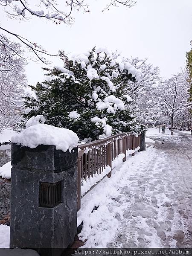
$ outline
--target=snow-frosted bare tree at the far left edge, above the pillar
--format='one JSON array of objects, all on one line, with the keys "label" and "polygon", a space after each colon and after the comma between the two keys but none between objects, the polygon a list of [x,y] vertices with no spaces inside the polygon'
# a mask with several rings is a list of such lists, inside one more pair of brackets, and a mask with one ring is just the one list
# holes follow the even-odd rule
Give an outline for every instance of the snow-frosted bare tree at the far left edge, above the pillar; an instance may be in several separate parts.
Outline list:
[{"label": "snow-frosted bare tree at the far left edge, above the pillar", "polygon": [[[17,52],[20,52],[20,45],[14,44]],[[7,47],[0,47],[0,56],[12,56],[11,64],[4,61],[0,66],[0,130],[5,127],[12,127],[20,120],[20,112],[23,105],[24,87],[26,87],[25,60],[18,58],[13,51]]]}]

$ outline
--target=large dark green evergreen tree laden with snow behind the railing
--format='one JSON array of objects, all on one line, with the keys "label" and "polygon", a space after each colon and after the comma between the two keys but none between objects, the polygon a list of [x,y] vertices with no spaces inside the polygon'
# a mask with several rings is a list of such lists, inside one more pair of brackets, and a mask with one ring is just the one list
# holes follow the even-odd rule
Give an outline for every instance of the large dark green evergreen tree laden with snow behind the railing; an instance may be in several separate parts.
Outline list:
[{"label": "large dark green evergreen tree laden with snow behind the railing", "polygon": [[81,140],[142,130],[126,93],[140,80],[140,70],[118,63],[106,48],[61,57],[64,67],[44,69],[47,79],[31,86],[36,98],[25,98],[27,119],[43,115],[47,124],[71,129]]}]

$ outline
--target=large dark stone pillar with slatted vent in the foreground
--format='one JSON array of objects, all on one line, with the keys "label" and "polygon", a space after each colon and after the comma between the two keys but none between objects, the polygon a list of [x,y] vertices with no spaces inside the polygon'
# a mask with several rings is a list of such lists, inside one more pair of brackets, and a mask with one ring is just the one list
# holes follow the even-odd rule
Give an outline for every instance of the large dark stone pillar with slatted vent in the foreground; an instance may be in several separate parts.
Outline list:
[{"label": "large dark stone pillar with slatted vent in the foreground", "polygon": [[[12,143],[10,248],[60,255],[77,232],[78,148]],[[47,253],[43,248],[61,248]],[[50,250],[51,251],[51,250]]]}]

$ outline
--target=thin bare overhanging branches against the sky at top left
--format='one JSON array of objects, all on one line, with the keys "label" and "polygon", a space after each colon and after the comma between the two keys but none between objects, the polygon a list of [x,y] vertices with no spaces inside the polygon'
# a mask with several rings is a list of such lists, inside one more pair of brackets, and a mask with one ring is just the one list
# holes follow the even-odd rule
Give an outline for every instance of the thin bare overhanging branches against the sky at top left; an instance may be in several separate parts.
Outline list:
[{"label": "thin bare overhanging branches against the sky at top left", "polygon": [[[108,0],[109,3],[104,8],[109,10],[113,6],[123,5],[131,8],[136,5],[136,0]],[[0,0],[0,6],[4,9],[9,18],[19,20],[29,20],[32,17],[38,17],[41,19],[54,22],[56,25],[65,23],[72,24],[74,22],[73,12],[75,10],[82,10],[83,12],[90,12],[90,8],[86,3],[86,0],[67,0],[64,1],[63,8],[58,5],[58,0]],[[41,21],[40,21],[41,22]],[[24,38],[22,35],[18,35],[8,28],[0,26],[1,32],[6,35],[0,35],[0,45],[9,47],[15,54],[20,56],[20,52],[17,52],[15,48],[12,48],[12,40],[8,36],[15,37],[17,41],[26,47],[29,52],[35,55],[35,60],[47,63],[45,55],[58,56],[59,54],[52,54],[47,52],[41,45],[34,41]],[[24,55],[22,55],[24,58]],[[11,59],[11,56],[5,55],[4,60]]]}]

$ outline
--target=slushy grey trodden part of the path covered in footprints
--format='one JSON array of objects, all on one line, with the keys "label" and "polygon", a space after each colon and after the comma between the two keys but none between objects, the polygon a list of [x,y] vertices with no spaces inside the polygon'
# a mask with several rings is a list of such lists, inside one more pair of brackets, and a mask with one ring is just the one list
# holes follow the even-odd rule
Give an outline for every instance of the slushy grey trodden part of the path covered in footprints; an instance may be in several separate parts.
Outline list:
[{"label": "slushy grey trodden part of the path covered in footprints", "polygon": [[108,247],[192,247],[192,136],[176,135],[149,136],[155,153],[111,205],[126,202]]}]

